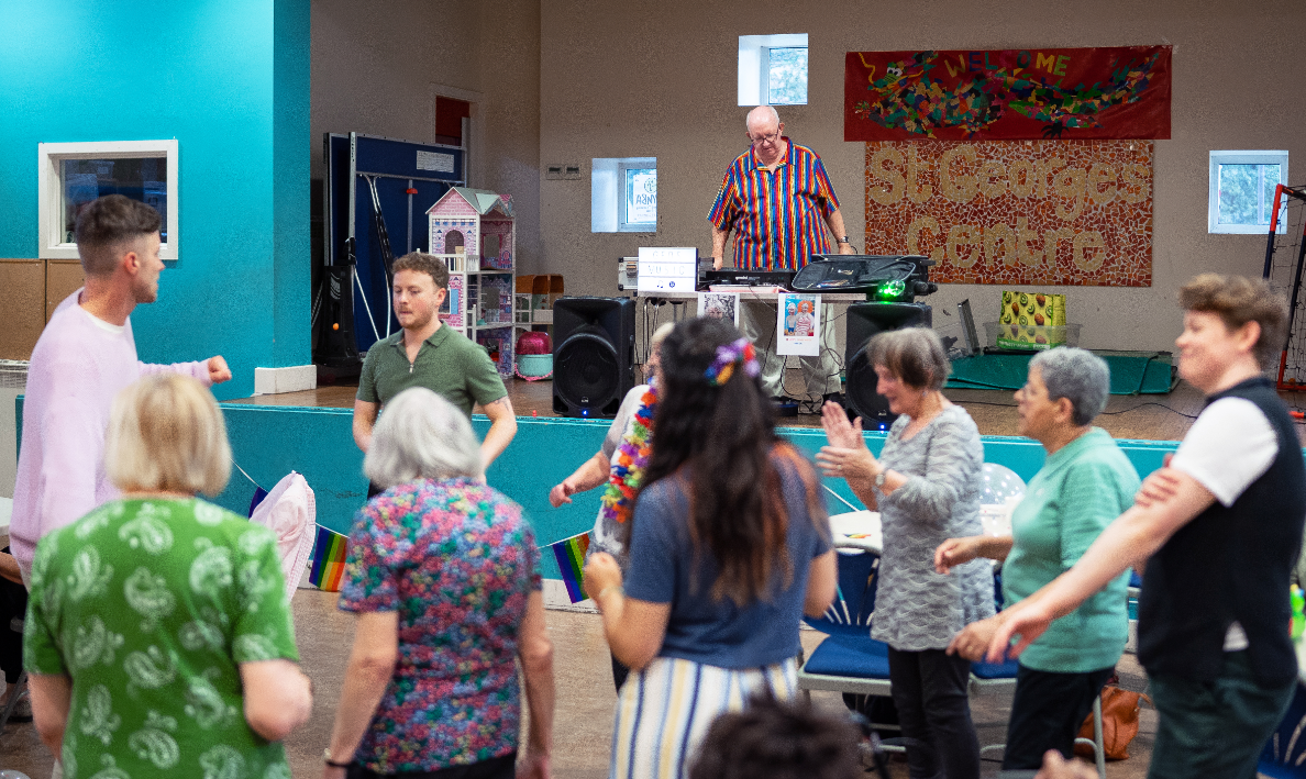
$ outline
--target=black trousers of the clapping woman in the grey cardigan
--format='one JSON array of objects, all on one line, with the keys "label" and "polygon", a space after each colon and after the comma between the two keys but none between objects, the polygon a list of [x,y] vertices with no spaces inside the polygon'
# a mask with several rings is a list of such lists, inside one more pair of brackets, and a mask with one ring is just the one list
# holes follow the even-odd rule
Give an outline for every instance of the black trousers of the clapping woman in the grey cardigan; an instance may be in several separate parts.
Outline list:
[{"label": "black trousers of the clapping woman in the grey cardigan", "polygon": [[912,779],[980,779],[980,737],[966,698],[970,660],[889,647],[889,682]]}]

